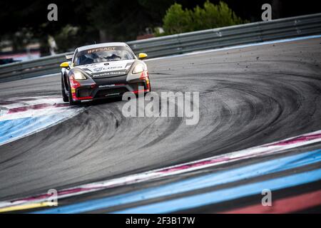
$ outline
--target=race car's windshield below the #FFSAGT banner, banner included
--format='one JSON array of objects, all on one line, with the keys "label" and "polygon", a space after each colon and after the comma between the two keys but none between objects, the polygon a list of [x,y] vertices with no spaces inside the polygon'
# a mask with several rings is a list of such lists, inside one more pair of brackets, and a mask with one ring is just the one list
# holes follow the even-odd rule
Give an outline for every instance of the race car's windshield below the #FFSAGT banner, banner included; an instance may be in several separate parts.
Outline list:
[{"label": "race car's windshield below the #FFSAGT banner, banner included", "polygon": [[79,66],[134,58],[133,53],[126,46],[108,46],[102,48],[91,48],[76,53],[74,65]]}]

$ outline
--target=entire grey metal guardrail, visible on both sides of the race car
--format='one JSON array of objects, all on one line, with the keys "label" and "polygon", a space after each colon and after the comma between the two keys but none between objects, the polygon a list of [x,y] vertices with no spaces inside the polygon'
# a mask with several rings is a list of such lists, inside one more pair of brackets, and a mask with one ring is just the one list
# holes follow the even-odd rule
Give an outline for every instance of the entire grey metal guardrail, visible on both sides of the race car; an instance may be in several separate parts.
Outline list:
[{"label": "entire grey metal guardrail, visible on both sides of the race car", "polygon": [[[148,57],[160,57],[313,34],[321,34],[321,14],[213,28],[127,43],[135,53],[146,52]],[[68,53],[0,66],[0,81],[58,73],[59,64],[66,60],[66,54]]]}]

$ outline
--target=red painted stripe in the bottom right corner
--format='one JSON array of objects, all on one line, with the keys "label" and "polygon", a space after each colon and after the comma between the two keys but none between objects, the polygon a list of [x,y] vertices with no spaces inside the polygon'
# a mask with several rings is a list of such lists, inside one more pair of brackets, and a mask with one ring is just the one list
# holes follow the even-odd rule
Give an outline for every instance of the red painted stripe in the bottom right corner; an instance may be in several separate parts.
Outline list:
[{"label": "red painted stripe in the bottom right corner", "polygon": [[295,197],[287,197],[284,199],[273,200],[272,206],[263,206],[255,204],[248,207],[233,209],[221,214],[285,214],[291,212],[299,212],[303,209],[315,207],[321,204],[321,190],[309,192]]}]

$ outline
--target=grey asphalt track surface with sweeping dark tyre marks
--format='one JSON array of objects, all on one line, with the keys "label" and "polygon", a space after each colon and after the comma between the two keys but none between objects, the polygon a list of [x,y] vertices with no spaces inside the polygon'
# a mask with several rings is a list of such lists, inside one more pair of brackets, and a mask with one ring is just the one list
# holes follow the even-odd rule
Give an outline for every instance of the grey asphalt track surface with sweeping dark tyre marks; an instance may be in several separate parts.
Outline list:
[{"label": "grey asphalt track surface with sweeping dark tyre marks", "polygon": [[[90,103],[70,120],[0,146],[0,200],[321,130],[321,38],[146,63],[154,92],[200,93],[197,125],[185,117],[125,118],[121,100]],[[59,75],[0,83],[0,100],[60,94]]]}]

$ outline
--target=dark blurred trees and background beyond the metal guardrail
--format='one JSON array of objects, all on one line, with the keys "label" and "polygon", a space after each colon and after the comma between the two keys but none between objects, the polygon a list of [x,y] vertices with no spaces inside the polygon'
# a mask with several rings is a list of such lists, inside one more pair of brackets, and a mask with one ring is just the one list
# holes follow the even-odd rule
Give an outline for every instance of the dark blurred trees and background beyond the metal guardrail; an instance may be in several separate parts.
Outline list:
[{"label": "dark blurred trees and background beyond the metal guardrail", "polygon": [[[48,5],[58,6],[49,21]],[[26,0],[0,2],[0,64],[25,61],[77,46],[133,41],[188,31],[319,13],[318,1],[281,0]]]}]

